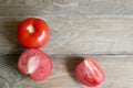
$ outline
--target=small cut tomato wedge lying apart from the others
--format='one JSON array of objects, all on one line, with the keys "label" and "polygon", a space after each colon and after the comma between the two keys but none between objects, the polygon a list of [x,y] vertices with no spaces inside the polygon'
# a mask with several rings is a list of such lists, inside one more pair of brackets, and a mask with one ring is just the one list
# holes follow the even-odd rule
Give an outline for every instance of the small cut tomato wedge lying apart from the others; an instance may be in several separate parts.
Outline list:
[{"label": "small cut tomato wedge lying apart from the others", "polygon": [[95,87],[104,80],[104,73],[92,57],[86,57],[75,67],[76,78],[85,86]]}]

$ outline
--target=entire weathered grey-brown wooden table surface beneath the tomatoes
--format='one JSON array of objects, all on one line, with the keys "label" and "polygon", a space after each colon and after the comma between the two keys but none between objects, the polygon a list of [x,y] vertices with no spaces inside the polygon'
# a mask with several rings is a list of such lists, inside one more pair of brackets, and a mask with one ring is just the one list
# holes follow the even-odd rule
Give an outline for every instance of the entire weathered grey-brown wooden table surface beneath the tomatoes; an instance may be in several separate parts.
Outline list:
[{"label": "entire weathered grey-brown wooden table surface beneath the tomatoes", "polygon": [[[133,88],[133,0],[0,0],[0,88],[88,88],[74,76],[82,57],[102,66],[105,81],[96,88]],[[17,68],[24,51],[17,42],[18,23],[37,16],[50,26],[41,47],[53,61],[41,82]]]}]

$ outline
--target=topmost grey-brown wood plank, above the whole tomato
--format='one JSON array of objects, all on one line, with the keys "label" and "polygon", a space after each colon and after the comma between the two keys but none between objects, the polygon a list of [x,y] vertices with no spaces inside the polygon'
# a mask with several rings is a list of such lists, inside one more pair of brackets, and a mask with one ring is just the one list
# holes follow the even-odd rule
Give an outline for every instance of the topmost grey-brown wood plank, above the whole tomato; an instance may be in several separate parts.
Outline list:
[{"label": "topmost grey-brown wood plank, above the whole tomato", "polygon": [[0,15],[133,18],[133,0],[0,0]]}]

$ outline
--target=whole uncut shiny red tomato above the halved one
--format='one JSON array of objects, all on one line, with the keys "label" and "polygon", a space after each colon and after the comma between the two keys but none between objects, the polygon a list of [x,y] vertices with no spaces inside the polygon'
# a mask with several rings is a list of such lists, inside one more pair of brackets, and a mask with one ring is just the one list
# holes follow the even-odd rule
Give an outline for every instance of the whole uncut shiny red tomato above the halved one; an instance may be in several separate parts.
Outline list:
[{"label": "whole uncut shiny red tomato above the halved one", "polygon": [[47,43],[50,36],[48,24],[37,18],[29,18],[22,21],[18,26],[18,41],[25,47],[41,47]]}]

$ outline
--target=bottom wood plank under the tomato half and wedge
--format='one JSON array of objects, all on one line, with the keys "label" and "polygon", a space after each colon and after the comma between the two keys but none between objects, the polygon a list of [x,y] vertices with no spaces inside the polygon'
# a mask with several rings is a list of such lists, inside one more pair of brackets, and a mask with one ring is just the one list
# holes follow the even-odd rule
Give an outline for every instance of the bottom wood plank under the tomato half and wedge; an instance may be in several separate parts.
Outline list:
[{"label": "bottom wood plank under the tomato half and wedge", "polygon": [[[18,55],[0,56],[1,88],[88,88],[74,76],[75,65],[88,55],[52,55],[51,76],[35,82],[17,69]],[[105,81],[98,88],[132,88],[133,55],[93,55],[105,73]]]}]

